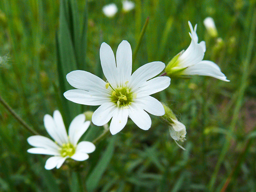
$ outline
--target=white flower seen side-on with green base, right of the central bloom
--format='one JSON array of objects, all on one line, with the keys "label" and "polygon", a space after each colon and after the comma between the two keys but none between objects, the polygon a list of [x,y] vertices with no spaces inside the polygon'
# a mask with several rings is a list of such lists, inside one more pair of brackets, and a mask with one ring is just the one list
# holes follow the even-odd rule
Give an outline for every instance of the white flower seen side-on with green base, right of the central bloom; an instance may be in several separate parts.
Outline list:
[{"label": "white flower seen side-on with green base, right of the central bloom", "polygon": [[186,51],[180,52],[176,55],[166,66],[166,73],[168,76],[183,76],[183,75],[203,75],[212,76],[222,81],[227,80],[226,76],[220,71],[217,64],[212,61],[203,60],[204,52],[206,51],[205,42],[198,43],[195,25],[193,27],[188,21],[191,33],[191,43]]}]

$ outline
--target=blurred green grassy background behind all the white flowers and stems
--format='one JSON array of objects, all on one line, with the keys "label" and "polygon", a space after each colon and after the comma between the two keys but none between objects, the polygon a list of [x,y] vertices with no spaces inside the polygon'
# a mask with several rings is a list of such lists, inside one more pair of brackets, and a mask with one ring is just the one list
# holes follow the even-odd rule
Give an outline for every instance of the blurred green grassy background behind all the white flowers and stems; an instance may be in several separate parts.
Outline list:
[{"label": "blurred green grassy background behind all the white flowers and stems", "polygon": [[[116,3],[106,17],[102,7]],[[151,116],[149,131],[132,121],[96,145],[83,162],[88,191],[256,191],[256,1],[136,0],[122,11],[121,1],[0,1],[0,95],[31,127],[48,136],[43,116],[62,112],[66,128],[79,113],[96,107],[63,98],[65,75],[89,71],[104,79],[99,48],[114,53],[122,40],[134,51],[147,17],[133,71],[152,61],[168,61],[190,44],[188,20],[206,41],[204,60],[212,60],[230,82],[193,76],[172,79],[155,98],[186,125],[186,151],[171,139],[166,124]],[[212,17],[218,37],[203,26]],[[56,38],[57,37],[57,38]],[[220,39],[221,38],[221,39]],[[92,125],[83,140],[103,131]],[[0,191],[77,191],[67,165],[47,171],[48,156],[26,152],[31,133],[0,105]]]}]

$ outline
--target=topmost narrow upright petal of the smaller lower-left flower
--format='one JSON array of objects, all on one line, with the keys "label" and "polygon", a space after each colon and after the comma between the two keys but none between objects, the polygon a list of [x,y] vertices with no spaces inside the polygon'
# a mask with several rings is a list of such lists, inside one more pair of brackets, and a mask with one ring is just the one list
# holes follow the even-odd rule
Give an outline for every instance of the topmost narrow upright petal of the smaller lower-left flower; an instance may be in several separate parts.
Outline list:
[{"label": "topmost narrow upright petal of the smaller lower-left flower", "polygon": [[68,134],[61,116],[61,113],[58,110],[55,110],[53,113],[53,118],[57,126],[57,132],[62,140],[62,143],[68,143]]}]

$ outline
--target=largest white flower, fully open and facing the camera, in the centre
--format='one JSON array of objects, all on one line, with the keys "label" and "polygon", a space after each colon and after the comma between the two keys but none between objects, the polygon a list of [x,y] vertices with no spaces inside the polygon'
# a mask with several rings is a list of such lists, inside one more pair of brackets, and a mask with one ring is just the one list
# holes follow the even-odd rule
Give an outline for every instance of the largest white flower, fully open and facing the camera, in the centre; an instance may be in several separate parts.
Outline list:
[{"label": "largest white flower, fully open and facing the camera, in the centre", "polygon": [[113,135],[124,128],[128,116],[139,128],[148,130],[151,119],[145,111],[156,116],[165,113],[162,104],[149,96],[170,84],[169,77],[153,78],[165,68],[164,63],[145,64],[131,75],[132,50],[127,41],[119,44],[116,60],[111,47],[101,44],[100,60],[108,82],[86,71],[72,71],[67,80],[77,89],[65,92],[64,96],[79,104],[101,105],[94,112],[92,122],[102,126],[112,118],[110,132]]}]

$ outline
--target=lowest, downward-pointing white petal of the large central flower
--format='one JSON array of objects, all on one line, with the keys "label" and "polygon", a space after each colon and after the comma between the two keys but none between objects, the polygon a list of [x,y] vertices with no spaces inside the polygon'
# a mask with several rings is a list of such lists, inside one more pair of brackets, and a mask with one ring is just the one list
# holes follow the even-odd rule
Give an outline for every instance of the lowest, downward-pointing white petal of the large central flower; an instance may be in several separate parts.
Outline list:
[{"label": "lowest, downward-pointing white petal of the large central flower", "polygon": [[128,109],[118,108],[113,114],[109,130],[112,135],[120,132],[127,123]]}]

